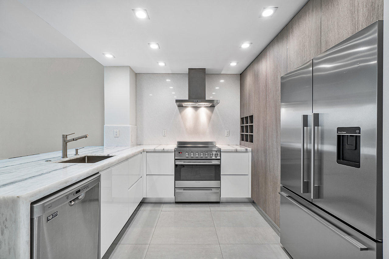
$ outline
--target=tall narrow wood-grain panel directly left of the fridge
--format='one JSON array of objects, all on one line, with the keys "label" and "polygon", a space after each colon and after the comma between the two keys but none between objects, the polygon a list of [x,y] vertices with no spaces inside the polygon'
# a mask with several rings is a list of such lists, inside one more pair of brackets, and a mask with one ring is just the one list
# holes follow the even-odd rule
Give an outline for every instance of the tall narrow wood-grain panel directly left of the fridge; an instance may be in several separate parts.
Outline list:
[{"label": "tall narrow wood-grain panel directly left of the fridge", "polygon": [[286,74],[286,28],[269,44],[267,51],[266,113],[266,214],[279,226],[280,213],[280,102],[281,76]]}]

